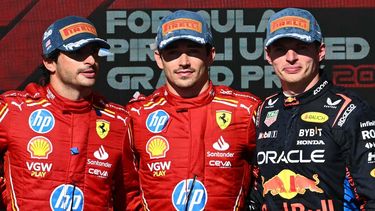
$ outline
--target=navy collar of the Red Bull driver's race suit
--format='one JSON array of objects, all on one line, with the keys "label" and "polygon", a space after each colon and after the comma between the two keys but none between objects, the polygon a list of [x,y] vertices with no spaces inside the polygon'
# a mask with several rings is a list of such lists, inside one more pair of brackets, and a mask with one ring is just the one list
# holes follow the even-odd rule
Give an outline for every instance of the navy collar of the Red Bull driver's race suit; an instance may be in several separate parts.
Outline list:
[{"label": "navy collar of the Red Bull driver's race suit", "polygon": [[330,86],[332,86],[332,83],[328,80],[328,78],[325,75],[322,75],[322,77],[319,79],[319,82],[316,83],[314,87],[300,95],[287,97],[284,94],[282,94],[282,96],[284,96],[284,106],[297,106],[313,101],[316,98],[319,98],[321,95],[323,95]]}]

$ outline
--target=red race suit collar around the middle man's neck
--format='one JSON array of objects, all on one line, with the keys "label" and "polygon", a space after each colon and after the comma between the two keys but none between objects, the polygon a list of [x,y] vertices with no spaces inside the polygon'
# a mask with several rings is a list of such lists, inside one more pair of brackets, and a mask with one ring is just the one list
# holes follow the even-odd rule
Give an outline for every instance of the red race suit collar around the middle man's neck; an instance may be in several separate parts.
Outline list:
[{"label": "red race suit collar around the middle man's neck", "polygon": [[211,81],[209,83],[208,89],[197,97],[182,98],[169,92],[166,86],[164,86],[163,94],[168,103],[177,108],[176,110],[204,106],[210,103],[215,97],[215,91]]}]

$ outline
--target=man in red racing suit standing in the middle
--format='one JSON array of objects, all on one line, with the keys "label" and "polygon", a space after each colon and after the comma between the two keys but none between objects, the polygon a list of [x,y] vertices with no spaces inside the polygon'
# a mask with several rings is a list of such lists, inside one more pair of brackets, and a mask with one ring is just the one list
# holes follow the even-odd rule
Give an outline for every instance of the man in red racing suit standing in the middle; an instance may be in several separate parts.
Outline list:
[{"label": "man in red racing suit standing in the middle", "polygon": [[209,81],[215,51],[198,13],[165,17],[156,45],[166,85],[127,107],[145,209],[244,210],[260,100]]}]

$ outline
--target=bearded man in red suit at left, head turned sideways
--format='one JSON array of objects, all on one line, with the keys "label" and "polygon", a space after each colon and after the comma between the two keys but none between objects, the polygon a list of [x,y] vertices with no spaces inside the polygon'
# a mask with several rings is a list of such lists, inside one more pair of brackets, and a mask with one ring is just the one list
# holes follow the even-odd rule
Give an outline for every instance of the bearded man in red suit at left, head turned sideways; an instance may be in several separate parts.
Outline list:
[{"label": "bearded man in red suit at left, head turned sideways", "polygon": [[129,117],[92,90],[109,44],[78,16],[51,24],[42,43],[46,84],[0,96],[7,210],[136,210]]}]

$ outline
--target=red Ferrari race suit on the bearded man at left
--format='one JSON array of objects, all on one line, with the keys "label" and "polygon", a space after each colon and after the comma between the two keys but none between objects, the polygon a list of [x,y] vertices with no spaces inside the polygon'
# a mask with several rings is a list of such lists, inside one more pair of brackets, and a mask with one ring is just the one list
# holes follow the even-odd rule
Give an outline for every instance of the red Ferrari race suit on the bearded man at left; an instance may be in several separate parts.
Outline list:
[{"label": "red Ferrari race suit on the bearded man at left", "polygon": [[7,210],[141,205],[129,117],[119,105],[97,95],[90,99],[70,101],[36,84],[1,95]]}]

